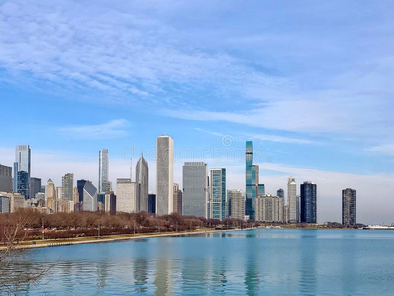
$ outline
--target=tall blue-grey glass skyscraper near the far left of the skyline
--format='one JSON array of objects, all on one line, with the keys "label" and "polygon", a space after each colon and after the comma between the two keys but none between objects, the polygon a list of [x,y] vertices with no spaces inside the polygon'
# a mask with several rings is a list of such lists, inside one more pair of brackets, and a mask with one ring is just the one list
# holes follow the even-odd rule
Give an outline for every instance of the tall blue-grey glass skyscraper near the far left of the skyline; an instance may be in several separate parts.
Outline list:
[{"label": "tall blue-grey glass skyscraper near the far left of the skyline", "polygon": [[26,199],[29,198],[30,154],[29,145],[17,145],[15,148],[14,192],[25,195]]}]

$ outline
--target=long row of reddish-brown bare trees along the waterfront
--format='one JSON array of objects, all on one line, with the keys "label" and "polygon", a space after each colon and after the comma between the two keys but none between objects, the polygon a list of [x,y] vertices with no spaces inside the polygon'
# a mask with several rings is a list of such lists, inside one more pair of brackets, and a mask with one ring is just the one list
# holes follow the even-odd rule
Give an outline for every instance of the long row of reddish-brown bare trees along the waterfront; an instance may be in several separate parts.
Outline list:
[{"label": "long row of reddish-brown bare trees along the waterfront", "polygon": [[[29,210],[17,213],[0,215],[0,224],[3,227],[12,227],[19,217],[28,217],[24,227],[15,233],[18,240],[36,240],[42,236],[42,225],[45,229],[46,239],[67,239],[79,236],[105,236],[132,233],[152,233],[167,231],[192,231],[196,228],[211,227],[216,229],[242,228],[252,226],[240,220],[217,219],[207,220],[199,217],[186,217],[171,214],[156,217],[147,212],[115,213],[104,212],[73,212],[42,214]],[[56,230],[52,230],[56,229]],[[4,238],[0,233],[0,240]]]}]

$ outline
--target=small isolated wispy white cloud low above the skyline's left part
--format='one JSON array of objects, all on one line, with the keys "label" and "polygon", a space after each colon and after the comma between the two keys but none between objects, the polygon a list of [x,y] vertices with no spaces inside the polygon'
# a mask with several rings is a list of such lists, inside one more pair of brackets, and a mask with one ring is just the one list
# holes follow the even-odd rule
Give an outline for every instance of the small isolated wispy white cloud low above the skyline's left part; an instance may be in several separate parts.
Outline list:
[{"label": "small isolated wispy white cloud low above the skyline's left part", "polygon": [[66,126],[60,131],[68,138],[114,139],[126,136],[130,122],[126,119],[114,119],[102,124]]}]

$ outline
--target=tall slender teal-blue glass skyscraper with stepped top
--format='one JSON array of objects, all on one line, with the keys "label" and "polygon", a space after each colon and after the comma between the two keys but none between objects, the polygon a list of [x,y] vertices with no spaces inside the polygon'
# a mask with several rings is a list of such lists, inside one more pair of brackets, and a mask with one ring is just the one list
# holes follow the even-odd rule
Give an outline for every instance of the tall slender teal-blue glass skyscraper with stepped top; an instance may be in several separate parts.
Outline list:
[{"label": "tall slender teal-blue glass skyscraper with stepped top", "polygon": [[245,215],[255,219],[255,198],[259,184],[259,166],[253,165],[253,142],[246,141],[246,191]]}]

